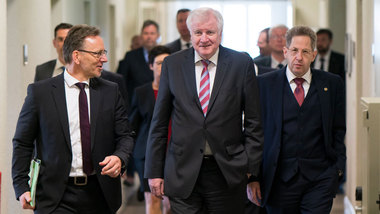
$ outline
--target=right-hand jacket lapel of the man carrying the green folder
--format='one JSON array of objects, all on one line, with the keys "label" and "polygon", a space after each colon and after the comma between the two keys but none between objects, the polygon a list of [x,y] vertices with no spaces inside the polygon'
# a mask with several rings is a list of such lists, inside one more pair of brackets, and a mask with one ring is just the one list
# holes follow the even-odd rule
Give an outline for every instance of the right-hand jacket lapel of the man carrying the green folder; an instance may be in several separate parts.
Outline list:
[{"label": "right-hand jacket lapel of the man carrying the green folder", "polygon": [[99,79],[90,79],[90,126],[91,126],[91,149],[94,148],[96,121],[99,115],[100,104]]}]

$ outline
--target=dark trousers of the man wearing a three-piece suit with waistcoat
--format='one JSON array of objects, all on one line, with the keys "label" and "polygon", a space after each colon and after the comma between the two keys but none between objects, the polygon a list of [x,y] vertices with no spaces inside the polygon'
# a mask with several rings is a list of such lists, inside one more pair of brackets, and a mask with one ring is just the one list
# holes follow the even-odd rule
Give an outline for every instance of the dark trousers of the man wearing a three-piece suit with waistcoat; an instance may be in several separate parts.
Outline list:
[{"label": "dark trousers of the man wearing a three-piece suit with waistcoat", "polygon": [[265,207],[269,214],[328,214],[337,187],[338,172],[334,167],[313,181],[299,172],[286,183],[276,176]]}]

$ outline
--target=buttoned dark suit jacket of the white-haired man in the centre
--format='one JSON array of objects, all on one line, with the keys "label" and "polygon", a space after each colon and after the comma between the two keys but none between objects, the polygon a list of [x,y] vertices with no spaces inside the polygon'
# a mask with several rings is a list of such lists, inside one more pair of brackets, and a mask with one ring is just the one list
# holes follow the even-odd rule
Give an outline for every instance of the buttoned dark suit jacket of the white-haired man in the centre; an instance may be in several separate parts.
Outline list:
[{"label": "buttoned dark suit jacket of the white-haired man in the centre", "polygon": [[206,141],[230,187],[246,182],[246,173],[257,176],[263,142],[258,99],[252,59],[220,46],[204,117],[196,89],[194,48],[166,57],[148,137],[145,177],[164,178],[166,195],[187,198],[198,178]]}]

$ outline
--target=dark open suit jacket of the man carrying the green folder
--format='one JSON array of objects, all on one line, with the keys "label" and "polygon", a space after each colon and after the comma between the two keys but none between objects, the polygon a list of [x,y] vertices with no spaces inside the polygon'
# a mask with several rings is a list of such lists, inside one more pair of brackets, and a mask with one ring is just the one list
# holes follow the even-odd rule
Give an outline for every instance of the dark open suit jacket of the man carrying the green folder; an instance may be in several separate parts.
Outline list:
[{"label": "dark open suit jacket of the man carrying the green folder", "polygon": [[[91,155],[96,176],[110,209],[121,205],[120,178],[100,174],[99,162],[116,155],[125,164],[132,152],[128,118],[115,83],[90,80]],[[36,191],[36,213],[51,213],[60,202],[72,162],[64,75],[28,86],[13,138],[12,177],[16,198],[29,191],[28,172],[36,141],[41,160]]]}]

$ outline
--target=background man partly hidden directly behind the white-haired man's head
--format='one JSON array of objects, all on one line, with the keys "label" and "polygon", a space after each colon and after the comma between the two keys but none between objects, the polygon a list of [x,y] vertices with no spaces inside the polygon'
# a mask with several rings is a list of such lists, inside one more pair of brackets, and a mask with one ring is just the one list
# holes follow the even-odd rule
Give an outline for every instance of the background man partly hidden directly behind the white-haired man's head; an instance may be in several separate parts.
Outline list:
[{"label": "background man partly hidden directly behind the white-haired man's head", "polygon": [[185,50],[191,47],[190,32],[186,25],[186,19],[189,16],[189,9],[180,9],[177,11],[176,23],[180,37],[173,42],[166,44],[172,53]]}]

